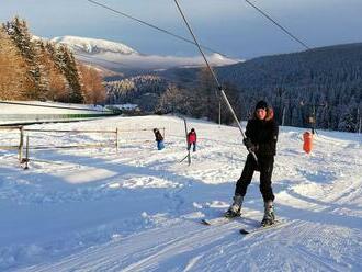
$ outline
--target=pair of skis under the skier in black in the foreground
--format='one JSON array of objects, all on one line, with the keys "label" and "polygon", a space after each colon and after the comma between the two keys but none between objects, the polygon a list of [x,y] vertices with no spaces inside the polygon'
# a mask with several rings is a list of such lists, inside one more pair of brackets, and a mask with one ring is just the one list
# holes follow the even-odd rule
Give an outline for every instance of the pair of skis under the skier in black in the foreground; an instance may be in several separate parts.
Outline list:
[{"label": "pair of skis under the skier in black in the foreground", "polygon": [[[229,218],[229,217],[220,216],[220,217],[211,218],[211,219],[202,219],[201,223],[204,224],[204,225],[207,225],[207,226],[218,226],[218,225],[223,225],[223,224],[229,223],[229,222],[231,222],[234,219],[237,219],[237,218],[244,219],[244,220],[253,222],[253,223],[256,222],[256,220],[249,219],[247,217],[231,217],[231,218]],[[250,227],[250,228],[240,228],[239,229],[239,233],[241,235],[257,234],[257,233],[261,233],[261,231],[264,231],[267,229],[270,229],[270,228],[280,227],[284,223],[281,222],[281,220],[275,220],[274,224],[268,225],[268,226],[259,225],[259,226]]]}]

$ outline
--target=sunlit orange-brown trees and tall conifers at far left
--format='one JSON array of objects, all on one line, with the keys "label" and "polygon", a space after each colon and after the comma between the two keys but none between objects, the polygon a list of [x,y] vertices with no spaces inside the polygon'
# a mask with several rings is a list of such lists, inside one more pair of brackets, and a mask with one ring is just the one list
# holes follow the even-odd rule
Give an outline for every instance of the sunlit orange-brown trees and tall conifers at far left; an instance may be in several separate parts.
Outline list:
[{"label": "sunlit orange-brown trees and tall conifers at far left", "polygon": [[98,70],[80,64],[65,45],[36,38],[15,16],[0,26],[0,99],[102,103]]}]

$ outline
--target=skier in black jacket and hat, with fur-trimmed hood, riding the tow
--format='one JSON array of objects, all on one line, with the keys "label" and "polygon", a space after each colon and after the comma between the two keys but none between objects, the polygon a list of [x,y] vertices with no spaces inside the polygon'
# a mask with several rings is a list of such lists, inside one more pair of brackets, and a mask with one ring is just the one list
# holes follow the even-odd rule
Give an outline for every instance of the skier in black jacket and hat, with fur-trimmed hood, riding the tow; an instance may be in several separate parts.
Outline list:
[{"label": "skier in black jacket and hat, with fur-trimmed hood, riding the tow", "polygon": [[264,201],[264,216],[262,226],[274,224],[274,194],[272,190],[272,171],[276,149],[279,127],[273,118],[273,110],[268,107],[265,101],[259,101],[254,115],[248,121],[244,145],[249,151],[257,155],[258,162],[249,152],[240,179],[236,183],[234,202],[225,213],[226,217],[241,215],[241,205],[247,188],[251,182],[254,171],[260,171],[260,192]]}]

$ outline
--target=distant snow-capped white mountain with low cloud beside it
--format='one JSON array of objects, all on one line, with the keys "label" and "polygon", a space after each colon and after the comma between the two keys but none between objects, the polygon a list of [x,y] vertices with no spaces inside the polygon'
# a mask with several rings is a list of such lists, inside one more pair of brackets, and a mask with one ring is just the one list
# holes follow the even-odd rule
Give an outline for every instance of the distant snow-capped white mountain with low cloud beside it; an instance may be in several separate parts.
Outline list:
[{"label": "distant snow-capped white mountain with low cloud beside it", "polygon": [[[122,43],[105,39],[64,36],[55,37],[52,42],[69,46],[79,60],[117,71],[124,69],[167,69],[173,67],[204,66],[204,60],[201,56],[145,55]],[[214,66],[230,65],[240,61],[238,59],[226,58],[219,54],[210,55],[207,58]]]}]

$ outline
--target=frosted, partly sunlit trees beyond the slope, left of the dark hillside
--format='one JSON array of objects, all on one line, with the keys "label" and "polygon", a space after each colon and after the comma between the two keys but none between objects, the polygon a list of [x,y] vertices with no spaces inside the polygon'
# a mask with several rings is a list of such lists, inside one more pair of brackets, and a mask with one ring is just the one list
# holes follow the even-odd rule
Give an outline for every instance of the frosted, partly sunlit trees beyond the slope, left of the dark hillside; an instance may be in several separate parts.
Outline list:
[{"label": "frosted, partly sunlit trees beyond the slope, left of the dark hillside", "polygon": [[[225,124],[233,123],[233,116],[224,106],[210,72],[206,69],[193,70],[195,81],[174,81],[158,75],[143,75],[105,82],[108,103],[133,103],[146,113],[174,113],[196,118],[206,118]],[[241,115],[241,101],[238,89],[226,84],[230,103]],[[222,104],[220,104],[222,103]],[[222,106],[220,106],[222,105]]]}]

